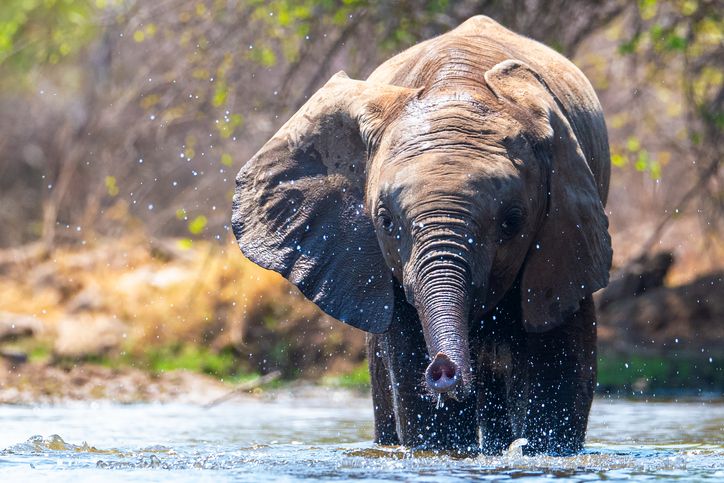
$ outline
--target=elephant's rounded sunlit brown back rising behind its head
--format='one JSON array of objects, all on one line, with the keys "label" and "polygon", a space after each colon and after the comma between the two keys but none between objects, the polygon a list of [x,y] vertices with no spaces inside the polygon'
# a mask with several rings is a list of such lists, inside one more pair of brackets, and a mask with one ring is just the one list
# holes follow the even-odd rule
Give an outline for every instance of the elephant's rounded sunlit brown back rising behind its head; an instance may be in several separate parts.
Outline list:
[{"label": "elephant's rounded sunlit brown back rising behind its head", "polygon": [[445,85],[488,91],[483,74],[507,59],[531,66],[558,97],[605,205],[611,168],[603,111],[588,79],[553,49],[479,15],[392,57],[368,80],[401,87]]}]

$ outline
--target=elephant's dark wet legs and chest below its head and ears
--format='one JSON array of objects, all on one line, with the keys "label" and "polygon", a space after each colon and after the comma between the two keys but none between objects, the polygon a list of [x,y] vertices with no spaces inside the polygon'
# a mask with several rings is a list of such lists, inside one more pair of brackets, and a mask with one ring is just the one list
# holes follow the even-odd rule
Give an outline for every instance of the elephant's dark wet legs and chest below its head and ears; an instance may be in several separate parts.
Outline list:
[{"label": "elephant's dark wet legs and chest below its head and ears", "polygon": [[520,322],[518,290],[513,287],[471,325],[475,389],[463,401],[446,399],[438,408],[419,378],[429,357],[417,312],[396,286],[392,327],[367,336],[377,443],[466,454],[501,454],[518,438],[528,440],[525,454],[568,455],[583,448],[596,375],[593,303],[586,300],[550,332],[528,334]]}]

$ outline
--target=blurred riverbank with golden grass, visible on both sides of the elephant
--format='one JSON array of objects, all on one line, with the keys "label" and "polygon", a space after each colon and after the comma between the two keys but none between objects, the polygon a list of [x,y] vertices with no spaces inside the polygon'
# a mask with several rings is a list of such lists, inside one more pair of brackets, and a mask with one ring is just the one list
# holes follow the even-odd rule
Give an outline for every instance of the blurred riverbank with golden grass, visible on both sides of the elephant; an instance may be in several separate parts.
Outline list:
[{"label": "blurred riverbank with golden grass, visible on both sides of the elephant", "polygon": [[[599,303],[599,394],[724,393],[721,277],[689,279]],[[364,391],[364,334],[232,244],[139,236],[0,256],[0,402],[203,403],[273,371]]]}]

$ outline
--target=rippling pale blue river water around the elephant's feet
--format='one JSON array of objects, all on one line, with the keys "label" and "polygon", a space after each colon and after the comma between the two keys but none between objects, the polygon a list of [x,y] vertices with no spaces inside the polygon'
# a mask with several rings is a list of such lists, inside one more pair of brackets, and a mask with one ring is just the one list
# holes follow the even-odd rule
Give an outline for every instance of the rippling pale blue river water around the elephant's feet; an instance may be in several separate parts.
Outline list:
[{"label": "rippling pale blue river water around the elephant's feet", "polygon": [[[594,403],[586,451],[569,458],[455,459],[378,448],[367,398],[193,405],[0,406],[0,480],[724,480],[724,403]],[[42,436],[36,436],[42,435]]]}]

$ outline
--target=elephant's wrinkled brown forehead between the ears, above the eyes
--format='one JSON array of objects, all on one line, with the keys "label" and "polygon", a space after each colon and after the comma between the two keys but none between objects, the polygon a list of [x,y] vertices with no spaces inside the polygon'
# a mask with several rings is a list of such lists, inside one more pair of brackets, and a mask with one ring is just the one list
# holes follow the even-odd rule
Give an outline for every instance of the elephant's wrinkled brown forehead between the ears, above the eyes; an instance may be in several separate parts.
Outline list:
[{"label": "elephant's wrinkled brown forehead between the ears, above the eyes", "polygon": [[403,210],[421,204],[490,204],[522,187],[520,126],[483,96],[443,91],[410,102],[375,162],[379,188]]}]

